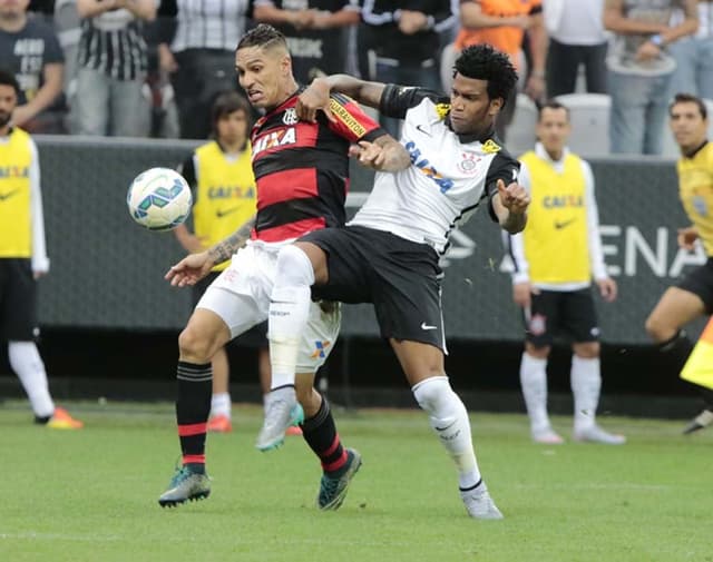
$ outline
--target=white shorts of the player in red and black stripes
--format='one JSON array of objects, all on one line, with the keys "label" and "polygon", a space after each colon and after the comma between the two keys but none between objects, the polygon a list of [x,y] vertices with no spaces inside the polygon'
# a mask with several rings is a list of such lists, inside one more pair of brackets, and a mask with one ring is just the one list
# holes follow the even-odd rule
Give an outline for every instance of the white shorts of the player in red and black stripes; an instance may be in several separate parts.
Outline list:
[{"label": "white shorts of the player in red and black stripes", "polygon": [[[206,289],[196,308],[206,308],[223,318],[231,338],[266,321],[277,253],[282,246],[248,241]],[[297,373],[315,373],[324,364],[336,343],[341,321],[338,304],[330,312],[324,312],[318,303],[311,304],[297,353]]]}]

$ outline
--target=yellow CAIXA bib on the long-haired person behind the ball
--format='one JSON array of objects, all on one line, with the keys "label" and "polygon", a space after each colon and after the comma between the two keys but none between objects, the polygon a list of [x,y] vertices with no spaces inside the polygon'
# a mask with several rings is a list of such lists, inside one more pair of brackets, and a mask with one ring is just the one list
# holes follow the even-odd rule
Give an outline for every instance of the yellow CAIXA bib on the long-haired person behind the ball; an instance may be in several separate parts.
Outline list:
[{"label": "yellow CAIXA bib on the long-haired person behind the ball", "polygon": [[[198,185],[193,207],[193,227],[204,246],[232,235],[256,211],[255,176],[250,144],[236,159],[228,159],[216,141],[196,149]],[[214,272],[225,269],[229,262]]]}]

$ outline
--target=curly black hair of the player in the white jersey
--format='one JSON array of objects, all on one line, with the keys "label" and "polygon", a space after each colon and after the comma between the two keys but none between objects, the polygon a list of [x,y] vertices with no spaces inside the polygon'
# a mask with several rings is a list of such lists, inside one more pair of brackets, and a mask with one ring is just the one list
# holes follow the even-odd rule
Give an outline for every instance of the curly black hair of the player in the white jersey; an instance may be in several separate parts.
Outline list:
[{"label": "curly black hair of the player in the white jersey", "polygon": [[466,78],[488,81],[488,97],[501,98],[507,101],[517,85],[517,71],[510,58],[488,43],[466,47],[456,59],[456,72]]}]

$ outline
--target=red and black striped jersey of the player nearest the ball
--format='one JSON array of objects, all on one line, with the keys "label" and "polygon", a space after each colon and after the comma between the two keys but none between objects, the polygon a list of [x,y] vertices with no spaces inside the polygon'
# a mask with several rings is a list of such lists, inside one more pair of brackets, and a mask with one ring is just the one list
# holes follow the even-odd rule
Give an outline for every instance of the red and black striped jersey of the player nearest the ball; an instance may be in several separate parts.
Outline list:
[{"label": "red and black striped jersey of the player nearest the ball", "polygon": [[257,185],[253,238],[265,241],[343,226],[349,146],[385,135],[356,102],[339,93],[330,100],[334,121],[321,111],[316,122],[301,121],[297,95],[261,117],[251,134]]}]

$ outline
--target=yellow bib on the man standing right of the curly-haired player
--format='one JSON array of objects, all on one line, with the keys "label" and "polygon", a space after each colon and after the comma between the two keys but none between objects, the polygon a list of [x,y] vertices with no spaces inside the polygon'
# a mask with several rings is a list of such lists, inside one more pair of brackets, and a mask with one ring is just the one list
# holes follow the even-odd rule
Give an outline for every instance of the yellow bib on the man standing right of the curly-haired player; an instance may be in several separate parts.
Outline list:
[{"label": "yellow bib on the man standing right of the curly-haired player", "polygon": [[534,151],[522,155],[520,160],[531,178],[531,204],[522,231],[530,282],[590,280],[586,184],[580,158],[567,155],[561,174]]}]

